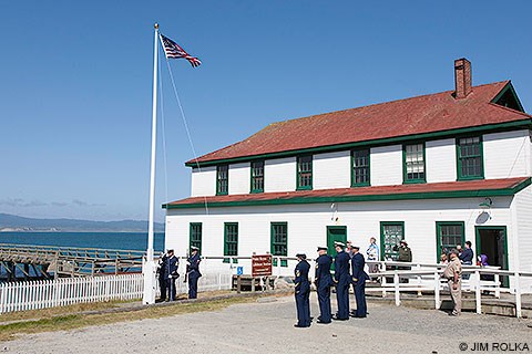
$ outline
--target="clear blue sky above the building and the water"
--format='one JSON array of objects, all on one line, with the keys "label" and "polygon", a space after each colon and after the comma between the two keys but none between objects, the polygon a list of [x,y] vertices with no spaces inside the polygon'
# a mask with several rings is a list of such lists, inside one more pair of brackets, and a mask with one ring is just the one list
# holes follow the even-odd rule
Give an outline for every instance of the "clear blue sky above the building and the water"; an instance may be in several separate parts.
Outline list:
[{"label": "clear blue sky above the building and the water", "polygon": [[[272,122],[452,90],[461,56],[473,84],[510,79],[530,111],[531,13],[526,0],[2,1],[0,212],[147,219],[154,22],[203,61],[171,62],[203,155]],[[193,158],[162,64],[160,221],[190,195]]]}]

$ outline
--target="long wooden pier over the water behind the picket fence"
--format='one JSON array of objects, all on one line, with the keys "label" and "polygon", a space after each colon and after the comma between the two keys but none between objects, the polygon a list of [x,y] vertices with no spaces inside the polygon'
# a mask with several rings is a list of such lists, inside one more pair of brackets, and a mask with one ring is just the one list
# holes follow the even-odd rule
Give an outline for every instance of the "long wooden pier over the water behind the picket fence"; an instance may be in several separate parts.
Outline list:
[{"label": "long wooden pier over the water behind the picket fence", "polygon": [[6,281],[142,272],[144,251],[0,243]]}]

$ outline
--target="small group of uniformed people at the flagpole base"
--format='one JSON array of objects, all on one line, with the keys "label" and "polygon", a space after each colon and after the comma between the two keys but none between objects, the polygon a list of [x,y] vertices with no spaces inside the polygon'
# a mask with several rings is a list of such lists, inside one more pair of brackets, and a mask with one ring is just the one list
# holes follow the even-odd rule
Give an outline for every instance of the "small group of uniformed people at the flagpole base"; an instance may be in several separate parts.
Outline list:
[{"label": "small group of uniformed people at the flagpole base", "polygon": [[[191,256],[186,259],[185,282],[188,283],[188,299],[197,298],[197,281],[202,273],[200,272],[200,249],[191,247]],[[180,259],[175,257],[174,250],[167,250],[158,261],[158,285],[161,288],[160,301],[175,301],[175,281],[180,278],[177,269]]]}]

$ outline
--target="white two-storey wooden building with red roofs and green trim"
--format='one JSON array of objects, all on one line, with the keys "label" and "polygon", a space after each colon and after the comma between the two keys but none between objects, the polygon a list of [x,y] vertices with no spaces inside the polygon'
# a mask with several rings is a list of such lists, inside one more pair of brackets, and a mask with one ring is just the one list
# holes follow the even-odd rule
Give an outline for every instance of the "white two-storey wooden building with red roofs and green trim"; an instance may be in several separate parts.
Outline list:
[{"label": "white two-storey wooden building with red roofs and green trim", "polygon": [[274,123],[186,163],[191,197],[163,206],[166,247],[314,257],[375,237],[382,258],[406,239],[415,262],[437,263],[470,240],[490,264],[532,271],[532,116],[510,81],[472,86],[466,59],[454,77],[453,91]]}]

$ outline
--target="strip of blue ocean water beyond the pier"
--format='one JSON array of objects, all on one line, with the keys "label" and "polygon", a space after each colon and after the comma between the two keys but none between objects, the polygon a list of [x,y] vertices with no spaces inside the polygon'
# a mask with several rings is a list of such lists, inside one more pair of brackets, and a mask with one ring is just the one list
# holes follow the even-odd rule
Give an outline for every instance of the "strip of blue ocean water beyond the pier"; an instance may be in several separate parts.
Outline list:
[{"label": "strip of blue ocean water beyond the pier", "polygon": [[[0,243],[143,250],[147,232],[0,232]],[[164,250],[164,232],[154,235],[154,250]]]}]

